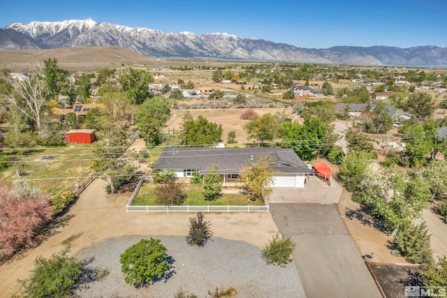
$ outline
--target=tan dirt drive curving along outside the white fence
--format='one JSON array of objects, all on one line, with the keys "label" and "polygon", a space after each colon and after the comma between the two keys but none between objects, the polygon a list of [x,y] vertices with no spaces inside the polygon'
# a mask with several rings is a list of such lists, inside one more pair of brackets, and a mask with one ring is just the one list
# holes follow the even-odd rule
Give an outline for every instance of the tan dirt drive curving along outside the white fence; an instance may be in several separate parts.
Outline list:
[{"label": "tan dirt drive curving along outside the white fence", "polygon": [[[41,246],[17,255],[0,267],[0,297],[13,294],[17,278],[24,278],[41,255],[49,258],[67,242],[72,253],[123,235],[186,235],[189,218],[194,214],[126,213],[130,193],[107,195],[105,181],[95,180],[60,220],[54,235]],[[214,237],[246,241],[262,248],[277,232],[268,213],[205,214],[212,223]]]}]

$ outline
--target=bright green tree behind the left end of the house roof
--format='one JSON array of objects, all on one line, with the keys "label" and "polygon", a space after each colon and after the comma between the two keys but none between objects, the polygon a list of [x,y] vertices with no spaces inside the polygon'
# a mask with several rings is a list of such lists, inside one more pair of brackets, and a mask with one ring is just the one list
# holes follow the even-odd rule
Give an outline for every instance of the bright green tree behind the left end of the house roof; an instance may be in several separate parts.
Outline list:
[{"label": "bright green tree behind the left end of the house roof", "polygon": [[149,98],[138,108],[136,118],[138,131],[146,144],[159,144],[161,128],[170,118],[170,103],[159,96]]}]

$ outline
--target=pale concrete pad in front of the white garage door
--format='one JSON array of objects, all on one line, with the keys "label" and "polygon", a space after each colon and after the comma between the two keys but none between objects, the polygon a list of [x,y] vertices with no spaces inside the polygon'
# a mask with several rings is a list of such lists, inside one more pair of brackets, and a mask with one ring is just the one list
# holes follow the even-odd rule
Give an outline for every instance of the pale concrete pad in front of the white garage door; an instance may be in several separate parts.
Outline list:
[{"label": "pale concrete pad in front of the white garage door", "polygon": [[274,188],[269,203],[337,204],[342,186],[332,180],[330,186],[315,176],[306,179],[304,188]]}]

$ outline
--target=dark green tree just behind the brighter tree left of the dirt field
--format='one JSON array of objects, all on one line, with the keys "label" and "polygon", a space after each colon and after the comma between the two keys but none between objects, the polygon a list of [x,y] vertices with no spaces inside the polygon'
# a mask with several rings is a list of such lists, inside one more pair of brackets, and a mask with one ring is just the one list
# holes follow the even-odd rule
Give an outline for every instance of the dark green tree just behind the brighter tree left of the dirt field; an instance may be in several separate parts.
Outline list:
[{"label": "dark green tree just behind the brighter tree left of the dirt field", "polygon": [[131,103],[141,105],[149,98],[149,83],[154,82],[154,77],[145,70],[129,68],[119,78],[119,82]]}]

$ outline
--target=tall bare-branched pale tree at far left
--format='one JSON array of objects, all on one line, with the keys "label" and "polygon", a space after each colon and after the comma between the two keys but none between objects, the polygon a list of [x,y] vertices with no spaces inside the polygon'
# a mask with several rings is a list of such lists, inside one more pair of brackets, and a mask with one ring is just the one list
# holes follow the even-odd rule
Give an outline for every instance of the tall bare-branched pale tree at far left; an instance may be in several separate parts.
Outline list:
[{"label": "tall bare-branched pale tree at far left", "polygon": [[45,77],[41,71],[33,70],[27,79],[14,82],[14,89],[6,101],[34,121],[36,129],[40,130],[43,107],[47,105],[47,98]]}]

